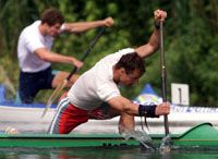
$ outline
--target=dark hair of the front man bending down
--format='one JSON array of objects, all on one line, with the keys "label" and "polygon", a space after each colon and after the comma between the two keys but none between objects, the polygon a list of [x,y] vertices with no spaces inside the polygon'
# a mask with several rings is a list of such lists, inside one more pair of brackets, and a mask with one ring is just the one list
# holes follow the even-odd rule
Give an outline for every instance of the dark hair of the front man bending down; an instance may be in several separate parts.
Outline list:
[{"label": "dark hair of the front man bending down", "polygon": [[130,74],[135,70],[140,70],[141,74],[145,72],[144,60],[136,52],[122,56],[118,63],[116,63],[114,68],[124,68],[126,74]]}]

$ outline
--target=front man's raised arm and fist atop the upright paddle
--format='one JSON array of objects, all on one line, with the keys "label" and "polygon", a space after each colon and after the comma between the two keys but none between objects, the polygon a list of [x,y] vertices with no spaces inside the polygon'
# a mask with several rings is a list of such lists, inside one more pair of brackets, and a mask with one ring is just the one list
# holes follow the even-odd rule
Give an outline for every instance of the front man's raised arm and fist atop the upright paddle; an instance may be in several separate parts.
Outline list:
[{"label": "front man's raised arm and fist atop the upright paddle", "polygon": [[154,12],[155,26],[156,26],[155,30],[153,32],[147,44],[135,49],[135,52],[137,52],[141,57],[146,58],[159,49],[160,45],[159,22],[165,21],[166,17],[167,17],[167,12],[162,10],[156,10]]}]

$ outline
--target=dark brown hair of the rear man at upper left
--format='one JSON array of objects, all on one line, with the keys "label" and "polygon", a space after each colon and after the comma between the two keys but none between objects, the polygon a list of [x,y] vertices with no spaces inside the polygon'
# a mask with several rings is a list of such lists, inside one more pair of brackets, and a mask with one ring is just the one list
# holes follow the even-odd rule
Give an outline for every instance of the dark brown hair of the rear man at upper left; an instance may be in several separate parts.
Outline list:
[{"label": "dark brown hair of the rear man at upper left", "polygon": [[41,23],[47,23],[49,26],[52,26],[57,23],[62,25],[64,23],[64,17],[59,10],[56,8],[50,8],[43,12]]}]

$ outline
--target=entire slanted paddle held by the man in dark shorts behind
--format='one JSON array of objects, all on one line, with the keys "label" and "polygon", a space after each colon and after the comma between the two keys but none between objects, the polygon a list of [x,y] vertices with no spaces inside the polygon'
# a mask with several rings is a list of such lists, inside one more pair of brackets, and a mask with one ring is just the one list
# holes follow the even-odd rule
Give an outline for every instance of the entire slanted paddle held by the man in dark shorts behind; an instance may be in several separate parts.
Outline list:
[{"label": "entire slanted paddle held by the man in dark shorts behind", "polygon": [[[101,35],[105,33],[105,27],[101,27],[98,35],[93,39],[93,41],[90,42],[88,49],[86,50],[86,52],[84,53],[83,58],[81,59],[81,61],[84,61],[86,59],[86,57],[88,56],[88,53],[90,52],[90,50],[93,49],[93,47],[95,46],[95,44],[97,42],[97,40],[101,37]],[[48,109],[51,107],[51,105],[53,103],[53,101],[56,100],[56,98],[58,97],[58,95],[61,93],[61,90],[66,86],[68,82],[70,81],[70,78],[72,77],[73,74],[75,74],[77,71],[77,68],[74,66],[74,69],[72,70],[72,72],[69,74],[69,76],[63,80],[63,82],[57,86],[57,88],[55,89],[55,91],[52,93],[52,95],[49,97],[46,108],[44,109],[44,113],[41,115],[41,118],[45,117],[46,112],[48,111]]]}]

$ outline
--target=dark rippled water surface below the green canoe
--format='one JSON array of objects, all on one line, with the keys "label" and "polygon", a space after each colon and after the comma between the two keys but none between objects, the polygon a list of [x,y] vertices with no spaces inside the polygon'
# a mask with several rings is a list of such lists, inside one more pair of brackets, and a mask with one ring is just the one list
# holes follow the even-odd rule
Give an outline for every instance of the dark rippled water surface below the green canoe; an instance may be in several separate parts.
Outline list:
[{"label": "dark rippled water surface below the green canoe", "polygon": [[0,159],[218,159],[218,151],[174,150],[169,154],[128,149],[1,148]]}]

